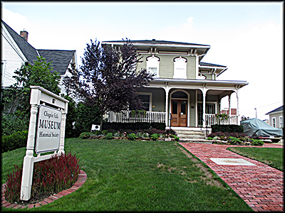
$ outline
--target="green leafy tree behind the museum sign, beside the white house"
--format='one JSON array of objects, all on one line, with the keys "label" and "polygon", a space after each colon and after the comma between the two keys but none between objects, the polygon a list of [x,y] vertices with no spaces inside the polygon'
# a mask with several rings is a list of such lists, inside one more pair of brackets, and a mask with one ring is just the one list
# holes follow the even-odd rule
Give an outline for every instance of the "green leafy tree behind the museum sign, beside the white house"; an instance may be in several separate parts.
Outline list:
[{"label": "green leafy tree behind the museum sign, beside the white house", "polygon": [[[3,116],[13,117],[15,122],[20,119],[21,122],[18,123],[24,123],[22,126],[26,128],[31,110],[30,86],[41,86],[55,94],[61,92],[60,87],[58,87],[61,76],[56,71],[52,72],[53,67],[51,65],[51,62],[47,63],[46,59],[41,56],[33,61],[33,65],[25,62],[20,69],[14,72],[16,75],[13,77],[16,79],[16,83],[7,89],[3,89]],[[2,124],[2,128],[8,128],[8,126]]]}]

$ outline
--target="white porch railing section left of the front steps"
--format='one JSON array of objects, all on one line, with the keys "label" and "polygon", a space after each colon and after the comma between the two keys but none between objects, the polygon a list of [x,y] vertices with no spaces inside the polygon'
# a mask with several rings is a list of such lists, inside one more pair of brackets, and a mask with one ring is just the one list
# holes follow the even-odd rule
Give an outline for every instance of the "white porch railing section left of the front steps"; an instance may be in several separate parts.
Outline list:
[{"label": "white porch railing section left of the front steps", "polygon": [[165,123],[165,112],[162,111],[145,111],[143,114],[133,114],[132,111],[110,111],[108,116],[105,116],[109,122],[118,123],[135,123],[135,122],[157,122]]}]

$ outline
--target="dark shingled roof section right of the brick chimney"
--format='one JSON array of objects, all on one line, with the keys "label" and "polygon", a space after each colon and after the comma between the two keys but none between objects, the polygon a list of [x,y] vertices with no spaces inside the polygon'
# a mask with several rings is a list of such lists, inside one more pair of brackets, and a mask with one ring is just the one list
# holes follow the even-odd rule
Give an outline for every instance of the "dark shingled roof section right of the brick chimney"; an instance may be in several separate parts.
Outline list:
[{"label": "dark shingled roof section right of the brick chimney", "polygon": [[53,71],[64,75],[76,50],[38,50],[38,53],[46,58],[46,62],[52,62]]}]

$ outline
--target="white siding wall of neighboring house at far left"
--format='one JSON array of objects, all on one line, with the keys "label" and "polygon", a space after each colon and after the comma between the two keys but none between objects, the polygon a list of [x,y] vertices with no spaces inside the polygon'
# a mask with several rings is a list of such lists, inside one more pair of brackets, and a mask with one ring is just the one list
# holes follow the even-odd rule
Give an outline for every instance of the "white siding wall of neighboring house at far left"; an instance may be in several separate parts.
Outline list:
[{"label": "white siding wall of neighboring house at far left", "polygon": [[3,79],[1,86],[9,87],[16,82],[13,78],[14,72],[21,68],[25,58],[23,58],[21,53],[17,53],[17,48],[14,46],[14,43],[9,40],[9,36],[6,35],[6,32],[1,31],[1,33],[1,62],[5,63],[4,70],[2,70]]}]

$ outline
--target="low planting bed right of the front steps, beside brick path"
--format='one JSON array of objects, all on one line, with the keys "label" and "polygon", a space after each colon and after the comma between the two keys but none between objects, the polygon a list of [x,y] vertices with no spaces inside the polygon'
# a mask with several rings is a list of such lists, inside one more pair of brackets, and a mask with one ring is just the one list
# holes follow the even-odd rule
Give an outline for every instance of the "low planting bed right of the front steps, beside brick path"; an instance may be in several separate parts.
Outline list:
[{"label": "low planting bed right of the front steps, beside brick path", "polygon": [[263,141],[250,138],[244,133],[210,133],[207,140],[212,140],[212,143],[227,144],[227,145],[241,145],[241,146],[262,146]]}]

